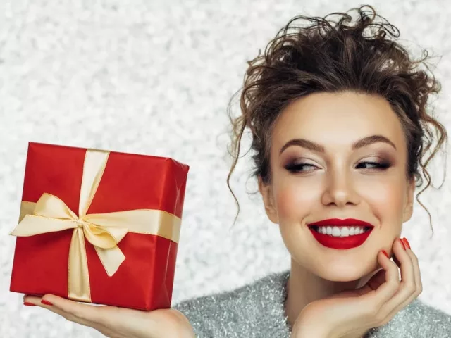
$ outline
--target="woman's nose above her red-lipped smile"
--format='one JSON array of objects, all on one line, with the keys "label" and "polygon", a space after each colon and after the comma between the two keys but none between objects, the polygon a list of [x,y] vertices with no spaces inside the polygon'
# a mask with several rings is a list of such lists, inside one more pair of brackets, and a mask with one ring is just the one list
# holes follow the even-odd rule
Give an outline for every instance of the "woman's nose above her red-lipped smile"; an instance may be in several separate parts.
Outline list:
[{"label": "woman's nose above her red-lipped smile", "polygon": [[354,190],[351,175],[341,170],[329,172],[321,201],[326,206],[335,204],[339,208],[348,204],[359,204],[359,196]]}]

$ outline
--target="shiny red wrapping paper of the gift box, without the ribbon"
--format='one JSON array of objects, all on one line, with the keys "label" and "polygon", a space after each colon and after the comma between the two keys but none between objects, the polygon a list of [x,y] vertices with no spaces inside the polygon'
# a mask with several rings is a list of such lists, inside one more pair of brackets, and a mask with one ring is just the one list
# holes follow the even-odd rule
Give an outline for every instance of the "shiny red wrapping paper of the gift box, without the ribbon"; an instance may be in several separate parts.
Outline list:
[{"label": "shiny red wrapping paper of the gift box, without the ribbon", "polygon": [[[87,149],[28,146],[22,201],[54,194],[78,213]],[[111,151],[87,213],[158,209],[182,218],[189,166],[171,158]],[[11,292],[68,298],[68,257],[73,230],[17,237]],[[85,239],[92,303],[140,310],[170,308],[178,244],[149,234],[125,235],[125,261],[109,277]]]}]

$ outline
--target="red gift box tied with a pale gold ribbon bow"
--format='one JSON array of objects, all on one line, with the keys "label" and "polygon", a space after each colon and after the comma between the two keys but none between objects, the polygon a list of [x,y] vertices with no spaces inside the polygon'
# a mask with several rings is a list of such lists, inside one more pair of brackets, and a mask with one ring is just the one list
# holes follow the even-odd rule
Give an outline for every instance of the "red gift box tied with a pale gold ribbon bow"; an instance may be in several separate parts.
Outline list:
[{"label": "red gift box tied with a pale gold ribbon bow", "polygon": [[189,168],[29,143],[10,291],[170,308]]}]

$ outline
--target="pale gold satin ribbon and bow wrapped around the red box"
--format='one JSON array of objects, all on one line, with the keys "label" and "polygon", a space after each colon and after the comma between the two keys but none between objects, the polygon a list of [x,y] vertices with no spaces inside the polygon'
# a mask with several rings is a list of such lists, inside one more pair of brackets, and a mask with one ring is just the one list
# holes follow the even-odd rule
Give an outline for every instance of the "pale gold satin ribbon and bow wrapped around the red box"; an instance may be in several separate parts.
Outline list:
[{"label": "pale gold satin ribbon and bow wrapped around the red box", "polygon": [[22,202],[19,223],[11,232],[13,236],[27,237],[73,229],[69,248],[68,298],[74,301],[91,303],[85,238],[94,246],[107,275],[112,276],[125,260],[118,243],[128,232],[154,234],[176,243],[180,236],[180,218],[166,211],[137,209],[87,214],[108,157],[109,151],[87,149],[78,216],[61,199],[44,193],[37,203]]}]

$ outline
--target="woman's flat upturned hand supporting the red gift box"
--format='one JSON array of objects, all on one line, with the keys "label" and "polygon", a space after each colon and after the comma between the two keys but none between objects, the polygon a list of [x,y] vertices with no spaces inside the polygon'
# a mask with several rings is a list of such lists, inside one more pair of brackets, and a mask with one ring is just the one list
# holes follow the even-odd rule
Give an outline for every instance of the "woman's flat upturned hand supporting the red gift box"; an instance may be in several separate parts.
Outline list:
[{"label": "woman's flat upturned hand supporting the red gift box", "polygon": [[47,308],[75,323],[93,327],[106,337],[195,337],[190,322],[185,315],[171,308],[139,311],[114,306],[92,306],[51,294],[46,294],[42,299],[25,295],[23,301],[27,305],[33,304]]}]

